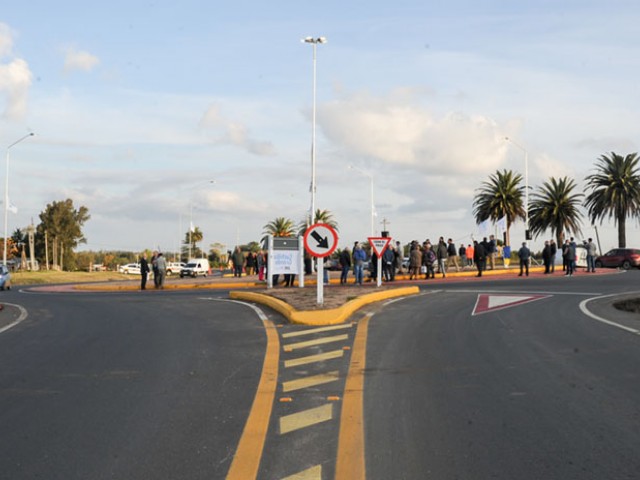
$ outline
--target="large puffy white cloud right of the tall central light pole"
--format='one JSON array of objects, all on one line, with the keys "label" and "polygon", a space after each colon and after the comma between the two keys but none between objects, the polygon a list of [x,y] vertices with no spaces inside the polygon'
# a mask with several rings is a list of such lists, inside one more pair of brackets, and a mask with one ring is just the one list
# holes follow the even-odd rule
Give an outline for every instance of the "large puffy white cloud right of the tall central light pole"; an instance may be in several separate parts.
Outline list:
[{"label": "large puffy white cloud right of the tall central light pole", "polygon": [[506,152],[491,118],[457,112],[436,118],[406,95],[336,100],[319,107],[318,123],[331,142],[356,155],[433,173],[492,171]]}]

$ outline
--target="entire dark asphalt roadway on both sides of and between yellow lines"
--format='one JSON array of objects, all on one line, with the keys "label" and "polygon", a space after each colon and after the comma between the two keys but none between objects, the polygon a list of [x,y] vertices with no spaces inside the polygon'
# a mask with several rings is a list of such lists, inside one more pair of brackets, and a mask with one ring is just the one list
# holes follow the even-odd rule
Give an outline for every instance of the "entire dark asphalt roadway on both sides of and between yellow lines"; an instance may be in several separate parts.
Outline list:
[{"label": "entire dark asphalt roadway on both sides of and between yellow lines", "polygon": [[[279,325],[257,478],[339,475],[359,354],[368,479],[640,478],[640,317],[607,297],[640,271],[422,286],[359,324]],[[225,478],[267,339],[224,297],[3,292],[0,330],[28,316],[0,332],[0,479]]]}]

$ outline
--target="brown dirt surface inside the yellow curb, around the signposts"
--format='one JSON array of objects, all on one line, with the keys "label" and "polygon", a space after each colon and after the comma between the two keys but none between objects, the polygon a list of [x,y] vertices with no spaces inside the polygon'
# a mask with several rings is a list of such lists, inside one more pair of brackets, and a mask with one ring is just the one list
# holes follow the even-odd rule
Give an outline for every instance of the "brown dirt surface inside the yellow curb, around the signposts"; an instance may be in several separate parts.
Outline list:
[{"label": "brown dirt surface inside the yellow curb, around the signposts", "polygon": [[361,295],[367,293],[379,292],[382,290],[390,290],[394,287],[381,286],[376,288],[375,286],[363,285],[361,287],[356,286],[325,286],[323,289],[324,303],[318,305],[318,290],[315,285],[311,285],[304,288],[298,287],[277,287],[270,290],[263,290],[260,293],[271,295],[283,302],[288,303],[296,310],[329,310],[332,308],[338,308],[349,300],[353,300]]}]

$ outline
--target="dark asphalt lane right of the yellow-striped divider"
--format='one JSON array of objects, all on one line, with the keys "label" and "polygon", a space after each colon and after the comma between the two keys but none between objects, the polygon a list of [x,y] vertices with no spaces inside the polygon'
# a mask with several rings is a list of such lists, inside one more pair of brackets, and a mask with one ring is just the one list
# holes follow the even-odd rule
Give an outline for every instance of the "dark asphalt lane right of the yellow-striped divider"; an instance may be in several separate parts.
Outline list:
[{"label": "dark asphalt lane right of the yellow-striped divider", "polygon": [[[367,478],[640,478],[640,336],[580,310],[638,285],[637,271],[440,285],[377,314]],[[473,315],[483,292],[543,298]]]}]

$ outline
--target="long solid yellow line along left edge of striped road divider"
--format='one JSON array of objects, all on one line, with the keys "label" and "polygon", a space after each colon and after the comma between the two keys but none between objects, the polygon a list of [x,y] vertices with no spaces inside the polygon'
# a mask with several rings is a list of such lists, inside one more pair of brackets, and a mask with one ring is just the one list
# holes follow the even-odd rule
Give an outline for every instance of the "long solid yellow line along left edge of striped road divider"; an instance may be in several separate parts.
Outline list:
[{"label": "long solid yellow line along left edge of striped road divider", "polygon": [[267,333],[267,349],[262,365],[262,375],[251,412],[231,462],[227,480],[249,480],[258,476],[262,450],[269,429],[271,408],[278,386],[280,341],[273,323],[267,318],[262,318],[262,323]]}]

